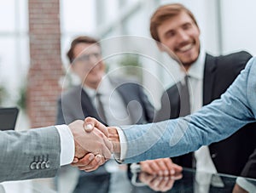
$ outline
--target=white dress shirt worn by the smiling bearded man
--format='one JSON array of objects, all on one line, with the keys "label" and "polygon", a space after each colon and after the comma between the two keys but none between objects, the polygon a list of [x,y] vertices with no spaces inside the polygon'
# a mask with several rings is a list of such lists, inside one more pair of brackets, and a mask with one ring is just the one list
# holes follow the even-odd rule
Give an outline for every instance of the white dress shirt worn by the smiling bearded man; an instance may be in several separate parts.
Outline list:
[{"label": "white dress shirt worn by the smiling bearded man", "polygon": [[[203,105],[203,78],[205,69],[206,52],[201,49],[198,59],[189,68],[189,71],[183,71],[183,77],[189,75],[189,99],[191,114],[201,109]],[[183,81],[183,80],[182,80]],[[210,150],[208,146],[201,146],[200,149],[195,150],[195,192],[205,193],[210,189],[212,184],[212,174],[217,173],[217,169],[212,162]],[[206,175],[206,174],[209,175]],[[218,184],[216,186],[222,187],[224,184],[222,180],[216,178]]]}]

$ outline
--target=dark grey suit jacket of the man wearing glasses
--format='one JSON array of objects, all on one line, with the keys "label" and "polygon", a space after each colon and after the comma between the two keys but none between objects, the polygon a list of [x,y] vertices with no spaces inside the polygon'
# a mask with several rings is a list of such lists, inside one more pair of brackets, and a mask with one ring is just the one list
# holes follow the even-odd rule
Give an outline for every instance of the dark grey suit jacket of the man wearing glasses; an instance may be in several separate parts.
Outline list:
[{"label": "dark grey suit jacket of the man wearing glasses", "polygon": [[[127,82],[123,79],[110,79],[110,81],[124,100],[132,124],[153,122],[154,107],[138,83]],[[140,105],[128,105],[129,102],[134,100]],[[84,89],[77,86],[61,94],[61,98],[58,100],[57,124],[68,124],[77,119],[84,120],[87,116],[93,116],[101,121],[96,108]],[[110,174],[107,173],[104,167],[99,167],[96,171],[90,173],[82,171],[74,192],[85,192],[85,190],[86,192],[108,192],[109,180]]]}]

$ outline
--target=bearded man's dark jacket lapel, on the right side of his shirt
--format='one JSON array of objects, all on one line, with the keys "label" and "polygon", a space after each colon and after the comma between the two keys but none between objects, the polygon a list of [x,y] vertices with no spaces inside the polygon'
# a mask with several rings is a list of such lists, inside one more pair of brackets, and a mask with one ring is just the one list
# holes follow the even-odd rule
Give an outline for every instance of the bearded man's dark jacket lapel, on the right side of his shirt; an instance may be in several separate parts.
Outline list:
[{"label": "bearded man's dark jacket lapel, on the right side of his shirt", "polygon": [[216,77],[216,58],[207,54],[203,78],[203,105],[207,105],[212,101],[212,88]]}]

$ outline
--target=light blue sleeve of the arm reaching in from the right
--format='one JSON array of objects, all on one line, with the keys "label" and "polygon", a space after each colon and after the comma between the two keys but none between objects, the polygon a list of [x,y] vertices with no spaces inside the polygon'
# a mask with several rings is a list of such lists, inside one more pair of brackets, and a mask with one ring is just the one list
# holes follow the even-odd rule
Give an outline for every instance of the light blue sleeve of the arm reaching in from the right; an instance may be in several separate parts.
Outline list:
[{"label": "light blue sleeve of the arm reaching in from the right", "polygon": [[191,116],[120,127],[126,139],[125,163],[180,156],[225,139],[256,118],[256,58],[211,105]]}]

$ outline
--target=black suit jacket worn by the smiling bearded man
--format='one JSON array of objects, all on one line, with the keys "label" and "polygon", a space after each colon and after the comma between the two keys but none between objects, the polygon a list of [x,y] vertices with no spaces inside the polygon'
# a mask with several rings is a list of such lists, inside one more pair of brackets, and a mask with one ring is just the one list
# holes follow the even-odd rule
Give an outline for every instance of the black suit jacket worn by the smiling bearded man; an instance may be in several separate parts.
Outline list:
[{"label": "black suit jacket worn by the smiling bearded man", "polygon": [[[218,99],[251,57],[247,52],[218,57],[207,54],[203,79],[203,105]],[[179,116],[179,111],[180,97],[177,85],[174,85],[162,95],[161,109],[154,122],[176,118]],[[255,147],[256,123],[252,123],[241,128],[230,138],[209,145],[209,150],[218,173],[240,175]],[[172,157],[172,160],[183,167],[192,167],[193,154]],[[247,173],[242,174],[247,175]]]}]

